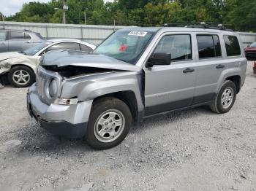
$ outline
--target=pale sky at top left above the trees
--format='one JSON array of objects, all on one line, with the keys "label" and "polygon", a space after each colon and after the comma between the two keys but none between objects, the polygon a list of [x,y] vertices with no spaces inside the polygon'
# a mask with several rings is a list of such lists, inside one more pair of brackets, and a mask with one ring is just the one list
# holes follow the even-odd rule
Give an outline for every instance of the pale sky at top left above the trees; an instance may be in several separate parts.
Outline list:
[{"label": "pale sky at top left above the trees", "polygon": [[[24,3],[28,3],[35,0],[0,0],[0,1],[1,1],[0,12],[2,12],[4,16],[10,16],[10,15],[15,15],[16,12],[19,12]],[[48,2],[50,0],[36,0],[36,1]],[[110,0],[104,0],[104,1],[110,1]]]}]

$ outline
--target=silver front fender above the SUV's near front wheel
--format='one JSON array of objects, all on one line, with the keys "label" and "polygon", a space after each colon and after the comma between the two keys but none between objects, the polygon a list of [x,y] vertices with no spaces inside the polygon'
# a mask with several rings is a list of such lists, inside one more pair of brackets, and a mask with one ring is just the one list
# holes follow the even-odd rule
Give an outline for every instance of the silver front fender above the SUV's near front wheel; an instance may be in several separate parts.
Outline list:
[{"label": "silver front fender above the SUV's near front wheel", "polygon": [[81,77],[64,81],[62,98],[78,97],[79,101],[88,101],[99,96],[132,91],[137,99],[138,110],[143,110],[141,73],[138,71],[116,71],[92,77]]}]

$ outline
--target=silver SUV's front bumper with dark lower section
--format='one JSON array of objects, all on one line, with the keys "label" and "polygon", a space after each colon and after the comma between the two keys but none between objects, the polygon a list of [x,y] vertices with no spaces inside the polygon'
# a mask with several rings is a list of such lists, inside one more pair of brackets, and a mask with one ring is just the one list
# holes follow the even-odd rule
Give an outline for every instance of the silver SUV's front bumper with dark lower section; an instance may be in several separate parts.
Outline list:
[{"label": "silver SUV's front bumper with dark lower section", "polygon": [[81,138],[86,134],[92,101],[65,106],[45,104],[37,95],[35,84],[27,93],[27,109],[31,117],[50,133],[67,138]]}]

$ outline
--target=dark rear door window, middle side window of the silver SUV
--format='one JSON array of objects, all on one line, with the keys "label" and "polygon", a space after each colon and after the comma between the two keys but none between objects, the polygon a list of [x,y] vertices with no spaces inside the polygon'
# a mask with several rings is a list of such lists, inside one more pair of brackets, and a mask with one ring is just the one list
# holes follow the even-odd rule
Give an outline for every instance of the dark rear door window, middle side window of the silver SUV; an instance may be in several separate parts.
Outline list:
[{"label": "dark rear door window, middle side window of the silver SUV", "polygon": [[197,35],[199,58],[215,58],[222,56],[217,35]]}]

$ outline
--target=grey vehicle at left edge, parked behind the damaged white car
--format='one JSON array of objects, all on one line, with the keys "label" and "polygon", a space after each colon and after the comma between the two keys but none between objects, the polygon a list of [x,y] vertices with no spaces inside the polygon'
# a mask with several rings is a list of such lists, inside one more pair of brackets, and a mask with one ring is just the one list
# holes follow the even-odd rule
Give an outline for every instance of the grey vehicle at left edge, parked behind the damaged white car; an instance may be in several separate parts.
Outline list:
[{"label": "grey vehicle at left edge, parked behind the damaged white car", "polygon": [[23,51],[44,41],[39,33],[0,29],[0,53]]}]

